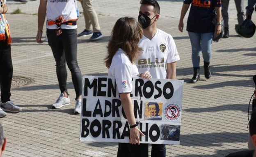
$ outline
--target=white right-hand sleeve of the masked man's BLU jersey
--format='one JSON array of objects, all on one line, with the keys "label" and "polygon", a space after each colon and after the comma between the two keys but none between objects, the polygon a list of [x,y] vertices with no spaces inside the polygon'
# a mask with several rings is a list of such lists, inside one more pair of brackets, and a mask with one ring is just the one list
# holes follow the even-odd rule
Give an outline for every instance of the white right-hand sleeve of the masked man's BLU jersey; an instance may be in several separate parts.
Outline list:
[{"label": "white right-hand sleeve of the masked man's BLU jersey", "polygon": [[169,52],[167,55],[166,63],[172,63],[172,62],[176,62],[178,60],[180,60],[180,56],[178,54],[174,39],[170,35],[169,36]]}]

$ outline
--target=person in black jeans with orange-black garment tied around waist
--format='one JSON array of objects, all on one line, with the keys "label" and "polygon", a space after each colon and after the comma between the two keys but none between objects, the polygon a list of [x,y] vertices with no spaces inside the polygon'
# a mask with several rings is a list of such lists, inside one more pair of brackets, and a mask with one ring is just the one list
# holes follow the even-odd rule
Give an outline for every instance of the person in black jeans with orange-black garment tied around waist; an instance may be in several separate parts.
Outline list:
[{"label": "person in black jeans with orange-black garment tied around waist", "polygon": [[[48,3],[47,3],[48,2]],[[46,13],[47,10],[47,13]],[[66,63],[71,71],[75,87],[75,114],[81,114],[82,75],[77,62],[77,25],[76,1],[62,2],[40,0],[38,8],[37,43],[42,43],[43,23],[47,16],[46,34],[56,62],[56,72],[61,94],[52,108],[70,104],[66,87]]]}]

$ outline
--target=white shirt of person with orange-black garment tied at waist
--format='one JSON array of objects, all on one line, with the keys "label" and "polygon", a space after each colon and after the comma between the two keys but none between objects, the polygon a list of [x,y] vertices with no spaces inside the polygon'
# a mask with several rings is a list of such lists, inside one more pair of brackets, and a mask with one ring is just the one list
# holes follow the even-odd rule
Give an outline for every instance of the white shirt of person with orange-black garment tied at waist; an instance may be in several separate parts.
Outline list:
[{"label": "white shirt of person with orange-black garment tied at waist", "polygon": [[[76,19],[76,0],[47,0],[47,9],[46,9],[46,28],[56,29],[57,25],[53,24],[48,26],[48,21],[55,21],[60,15],[63,16],[64,20]],[[62,24],[62,29],[76,29],[77,25],[67,25]]]}]

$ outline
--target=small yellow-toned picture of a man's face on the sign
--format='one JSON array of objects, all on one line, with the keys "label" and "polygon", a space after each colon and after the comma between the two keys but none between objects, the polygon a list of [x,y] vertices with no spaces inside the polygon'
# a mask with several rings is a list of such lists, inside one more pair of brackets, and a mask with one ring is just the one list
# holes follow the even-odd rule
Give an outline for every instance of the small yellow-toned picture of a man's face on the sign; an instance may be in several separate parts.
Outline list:
[{"label": "small yellow-toned picture of a man's face on the sign", "polygon": [[145,105],[145,120],[162,120],[162,103],[148,102]]}]

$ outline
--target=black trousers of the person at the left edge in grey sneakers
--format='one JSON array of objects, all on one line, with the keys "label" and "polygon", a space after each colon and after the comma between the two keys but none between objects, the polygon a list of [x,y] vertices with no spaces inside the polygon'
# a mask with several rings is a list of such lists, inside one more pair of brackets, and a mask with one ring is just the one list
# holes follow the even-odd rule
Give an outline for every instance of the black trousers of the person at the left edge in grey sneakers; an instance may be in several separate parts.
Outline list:
[{"label": "black trousers of the person at the left edge in grey sneakers", "polygon": [[11,45],[8,45],[6,40],[0,40],[1,102],[10,101],[12,73]]}]

